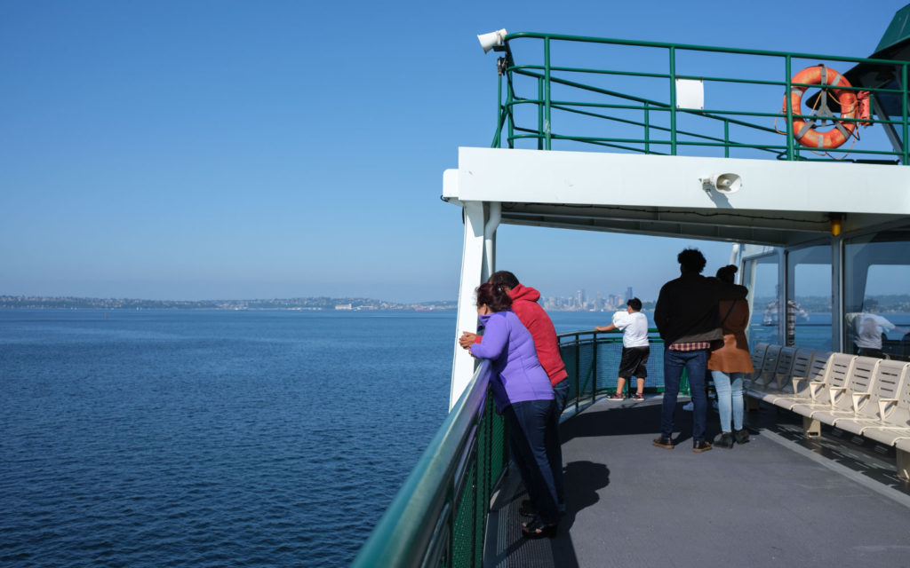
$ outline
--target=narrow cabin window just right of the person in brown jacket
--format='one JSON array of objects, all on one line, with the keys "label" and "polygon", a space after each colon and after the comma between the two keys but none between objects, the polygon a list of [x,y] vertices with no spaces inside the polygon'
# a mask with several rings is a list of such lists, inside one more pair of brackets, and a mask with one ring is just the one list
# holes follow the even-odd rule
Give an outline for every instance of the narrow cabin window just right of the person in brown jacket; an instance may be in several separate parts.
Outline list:
[{"label": "narrow cabin window just right of the person in brown jacket", "polygon": [[752,258],[745,262],[743,284],[749,288],[752,317],[749,325],[749,344],[780,344],[778,324],[777,254]]}]

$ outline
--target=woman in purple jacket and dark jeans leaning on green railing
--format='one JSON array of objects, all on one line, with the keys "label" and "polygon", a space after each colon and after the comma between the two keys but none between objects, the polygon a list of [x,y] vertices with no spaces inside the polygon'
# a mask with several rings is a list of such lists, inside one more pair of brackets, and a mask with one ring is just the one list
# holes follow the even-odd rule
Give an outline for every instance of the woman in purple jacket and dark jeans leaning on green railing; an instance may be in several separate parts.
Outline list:
[{"label": "woman in purple jacket and dark jeans leaning on green railing", "polygon": [[509,421],[512,457],[536,512],[521,532],[527,538],[553,537],[559,521],[554,480],[556,468],[562,469],[555,459],[559,415],[531,333],[510,308],[511,298],[501,286],[480,285],[477,313],[486,329],[480,344],[470,345],[470,354],[491,361],[493,402]]}]

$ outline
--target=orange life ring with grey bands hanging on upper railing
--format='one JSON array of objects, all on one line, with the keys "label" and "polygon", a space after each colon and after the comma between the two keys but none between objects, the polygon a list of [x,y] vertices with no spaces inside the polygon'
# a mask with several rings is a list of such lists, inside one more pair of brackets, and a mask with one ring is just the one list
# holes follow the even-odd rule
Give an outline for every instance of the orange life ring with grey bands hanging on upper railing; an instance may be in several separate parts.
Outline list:
[{"label": "orange life ring with grey bands hanging on upper railing", "polygon": [[[841,117],[856,117],[856,95],[853,91],[845,91],[841,87],[849,87],[850,82],[844,75],[834,71],[824,65],[814,65],[806,67],[800,71],[791,80],[791,83],[802,83],[804,85],[818,85],[820,88],[830,89],[834,94],[835,100],[841,105]],[[808,86],[794,85],[790,89],[790,108],[793,109],[794,115],[802,115],[803,112],[803,94]],[[787,98],[784,95],[784,114],[787,112]],[[825,110],[827,110],[825,108]],[[818,132],[814,129],[814,121],[805,121],[801,118],[794,118],[793,133],[796,141],[804,146],[811,148],[836,148],[847,141],[854,130],[856,123],[852,121],[839,121],[830,115],[834,121],[834,128],[827,132]]]}]

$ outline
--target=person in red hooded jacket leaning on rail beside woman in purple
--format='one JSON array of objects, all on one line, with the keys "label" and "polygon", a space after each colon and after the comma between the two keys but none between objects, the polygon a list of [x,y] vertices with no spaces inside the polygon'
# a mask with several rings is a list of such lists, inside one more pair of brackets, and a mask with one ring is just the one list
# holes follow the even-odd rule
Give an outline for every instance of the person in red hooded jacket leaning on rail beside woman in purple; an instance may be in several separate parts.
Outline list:
[{"label": "person in red hooded jacket leaning on rail beside woman in purple", "polygon": [[[541,293],[525,286],[518,281],[515,274],[507,270],[500,270],[490,274],[487,279],[490,284],[501,286],[506,294],[511,298],[511,309],[521,320],[531,337],[534,338],[534,347],[537,350],[537,359],[541,362],[543,370],[550,377],[550,384],[553,386],[553,395],[555,396],[557,411],[562,414],[565,410],[566,403],[569,399],[569,374],[566,373],[566,365],[562,362],[560,353],[560,341],[556,337],[556,328],[546,311],[538,304],[541,299]],[[480,343],[482,335],[464,332],[459,339],[460,345],[468,349],[471,344]],[[558,463],[562,463],[562,446],[557,449]],[[565,488],[562,480],[562,467],[556,472],[556,497],[560,512],[565,512]],[[521,503],[520,512],[527,517],[533,517],[534,512],[531,508],[530,501]]]}]

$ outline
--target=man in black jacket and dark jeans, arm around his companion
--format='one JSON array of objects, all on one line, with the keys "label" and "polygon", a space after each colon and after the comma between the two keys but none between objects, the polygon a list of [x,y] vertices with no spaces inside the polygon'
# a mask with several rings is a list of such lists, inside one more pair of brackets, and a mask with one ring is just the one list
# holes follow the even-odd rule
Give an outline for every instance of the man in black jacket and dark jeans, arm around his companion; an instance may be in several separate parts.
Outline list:
[{"label": "man in black jacket and dark jeans, arm around his companion", "polygon": [[680,277],[663,284],[654,306],[654,324],[664,347],[661,435],[652,443],[673,449],[673,418],[685,369],[693,398],[693,452],[706,452],[711,443],[704,439],[708,404],[704,379],[711,344],[723,339],[718,304],[722,297],[744,298],[746,289],[737,285],[727,288],[715,278],[705,278],[704,255],[698,249],[687,248],[676,260]]}]

